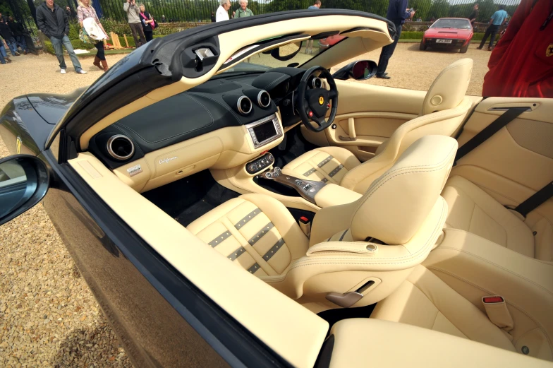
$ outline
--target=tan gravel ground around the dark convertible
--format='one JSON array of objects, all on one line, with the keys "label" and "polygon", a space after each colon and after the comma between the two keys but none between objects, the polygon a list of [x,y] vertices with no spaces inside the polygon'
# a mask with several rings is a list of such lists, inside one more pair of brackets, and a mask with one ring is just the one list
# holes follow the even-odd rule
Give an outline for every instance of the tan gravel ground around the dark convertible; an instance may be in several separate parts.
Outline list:
[{"label": "tan gravel ground around the dark convertible", "polygon": [[[358,59],[378,57],[375,51]],[[392,79],[363,83],[427,90],[439,71],[463,57],[475,61],[468,93],[480,95],[490,53],[474,48],[420,52],[418,44],[400,43],[388,67]],[[73,73],[70,63],[65,76],[50,55],[11,59],[0,65],[0,109],[18,95],[69,93],[102,74],[90,57],[81,58],[88,74]],[[0,139],[0,157],[6,155]],[[132,367],[42,205],[0,227],[0,367]]]}]

